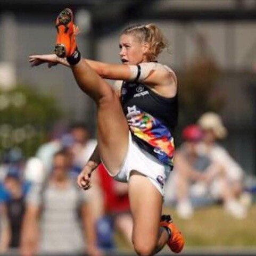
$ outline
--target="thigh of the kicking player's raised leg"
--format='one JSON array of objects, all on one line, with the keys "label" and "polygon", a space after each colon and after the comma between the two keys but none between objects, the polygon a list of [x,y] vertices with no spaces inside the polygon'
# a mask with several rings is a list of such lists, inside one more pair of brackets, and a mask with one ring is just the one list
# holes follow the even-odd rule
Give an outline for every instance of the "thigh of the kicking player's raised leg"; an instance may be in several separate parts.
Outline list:
[{"label": "thigh of the kicking player's raised leg", "polygon": [[105,166],[112,175],[117,174],[128,150],[129,128],[113,91],[97,104],[97,141]]}]

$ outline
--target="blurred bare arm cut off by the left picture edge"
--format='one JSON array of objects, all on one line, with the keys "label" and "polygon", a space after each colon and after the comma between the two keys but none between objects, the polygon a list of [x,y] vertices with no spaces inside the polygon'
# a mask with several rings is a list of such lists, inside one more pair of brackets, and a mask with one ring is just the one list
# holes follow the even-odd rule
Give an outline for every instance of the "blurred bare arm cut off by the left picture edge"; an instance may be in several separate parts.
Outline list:
[{"label": "blurred bare arm cut off by the left picture edge", "polygon": [[0,254],[5,253],[11,241],[11,229],[4,204],[0,204]]}]

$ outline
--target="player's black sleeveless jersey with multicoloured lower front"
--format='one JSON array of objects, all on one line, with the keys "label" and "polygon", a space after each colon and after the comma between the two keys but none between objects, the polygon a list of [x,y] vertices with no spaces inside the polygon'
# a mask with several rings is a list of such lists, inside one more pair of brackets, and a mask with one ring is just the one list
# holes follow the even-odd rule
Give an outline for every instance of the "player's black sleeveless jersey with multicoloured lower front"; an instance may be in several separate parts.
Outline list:
[{"label": "player's black sleeveless jersey with multicoloured lower front", "polygon": [[178,96],[163,97],[139,82],[123,82],[121,105],[133,140],[164,164],[173,166]]}]

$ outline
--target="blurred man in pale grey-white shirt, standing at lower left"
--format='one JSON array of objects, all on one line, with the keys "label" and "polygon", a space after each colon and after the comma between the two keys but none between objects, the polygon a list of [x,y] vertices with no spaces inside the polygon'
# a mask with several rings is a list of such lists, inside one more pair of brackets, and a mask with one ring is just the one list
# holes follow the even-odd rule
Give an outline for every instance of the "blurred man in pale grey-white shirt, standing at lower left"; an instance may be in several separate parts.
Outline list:
[{"label": "blurred man in pale grey-white shirt, standing at lower left", "polygon": [[32,186],[22,228],[21,255],[35,255],[37,251],[76,254],[85,250],[85,245],[89,255],[102,254],[95,245],[88,195],[69,178],[68,168],[67,151],[55,153],[45,184]]}]

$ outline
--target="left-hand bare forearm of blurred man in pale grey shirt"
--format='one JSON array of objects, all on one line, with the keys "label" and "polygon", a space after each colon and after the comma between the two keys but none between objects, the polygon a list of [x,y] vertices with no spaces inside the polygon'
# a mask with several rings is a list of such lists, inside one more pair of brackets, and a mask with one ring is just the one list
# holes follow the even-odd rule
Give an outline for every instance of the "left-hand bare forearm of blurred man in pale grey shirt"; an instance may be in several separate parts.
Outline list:
[{"label": "left-hand bare forearm of blurred man in pale grey shirt", "polygon": [[37,243],[39,239],[38,222],[39,207],[28,205],[24,214],[21,229],[20,253],[22,256],[33,256],[37,252]]}]

